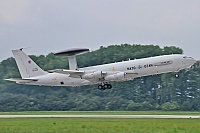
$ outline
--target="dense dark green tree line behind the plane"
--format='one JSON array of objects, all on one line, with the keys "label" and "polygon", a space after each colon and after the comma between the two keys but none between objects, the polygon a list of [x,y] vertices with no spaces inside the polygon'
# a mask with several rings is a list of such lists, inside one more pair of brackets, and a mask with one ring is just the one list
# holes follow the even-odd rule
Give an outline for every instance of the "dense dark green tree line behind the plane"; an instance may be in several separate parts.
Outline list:
[{"label": "dense dark green tree line behind the plane", "polygon": [[[121,44],[77,56],[78,66],[119,62],[151,56],[182,54],[174,46]],[[66,57],[31,55],[44,70],[66,69]],[[127,82],[113,82],[111,90],[100,91],[97,85],[82,87],[45,87],[18,85],[3,79],[20,77],[14,58],[0,63],[0,111],[53,110],[200,110],[200,65],[174,73],[136,78]]]}]

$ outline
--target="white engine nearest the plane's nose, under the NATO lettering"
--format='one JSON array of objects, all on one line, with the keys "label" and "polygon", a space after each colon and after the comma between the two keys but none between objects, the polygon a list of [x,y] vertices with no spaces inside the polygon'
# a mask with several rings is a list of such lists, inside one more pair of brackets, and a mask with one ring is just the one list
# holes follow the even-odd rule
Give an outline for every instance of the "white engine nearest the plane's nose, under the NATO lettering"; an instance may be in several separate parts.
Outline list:
[{"label": "white engine nearest the plane's nose, under the NATO lettering", "polygon": [[125,73],[119,72],[119,73],[116,73],[116,74],[106,76],[105,80],[107,80],[107,81],[119,81],[119,80],[124,80],[124,78],[125,78]]}]

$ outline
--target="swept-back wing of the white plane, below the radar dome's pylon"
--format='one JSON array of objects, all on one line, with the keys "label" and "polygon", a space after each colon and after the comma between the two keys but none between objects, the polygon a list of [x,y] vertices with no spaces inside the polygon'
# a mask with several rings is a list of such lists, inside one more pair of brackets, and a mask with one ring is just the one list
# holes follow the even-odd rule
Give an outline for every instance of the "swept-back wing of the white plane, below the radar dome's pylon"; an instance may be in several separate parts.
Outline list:
[{"label": "swept-back wing of the white plane, below the radar dome's pylon", "polygon": [[55,72],[60,74],[69,74],[69,77],[72,78],[80,78],[85,72],[84,71],[77,71],[77,70],[65,70],[65,69],[55,69],[55,70],[48,70],[48,72]]}]

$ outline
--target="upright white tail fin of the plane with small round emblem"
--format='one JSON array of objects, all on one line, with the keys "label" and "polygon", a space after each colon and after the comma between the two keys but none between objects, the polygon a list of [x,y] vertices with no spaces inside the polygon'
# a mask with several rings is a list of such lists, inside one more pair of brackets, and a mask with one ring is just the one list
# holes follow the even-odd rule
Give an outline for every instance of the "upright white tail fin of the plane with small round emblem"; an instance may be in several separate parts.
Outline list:
[{"label": "upright white tail fin of the plane with small round emblem", "polygon": [[12,50],[12,52],[22,79],[40,76],[47,73],[42,70],[28,55],[26,55],[22,49]]}]

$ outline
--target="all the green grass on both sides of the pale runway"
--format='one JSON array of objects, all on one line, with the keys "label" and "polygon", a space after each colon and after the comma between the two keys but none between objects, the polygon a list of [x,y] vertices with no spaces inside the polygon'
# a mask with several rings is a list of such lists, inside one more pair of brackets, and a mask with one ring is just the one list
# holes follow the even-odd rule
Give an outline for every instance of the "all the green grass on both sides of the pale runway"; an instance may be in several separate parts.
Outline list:
[{"label": "all the green grass on both sides of the pale runway", "polygon": [[[28,111],[0,115],[200,115],[164,111]],[[200,119],[1,118],[0,133],[199,133]]]}]

